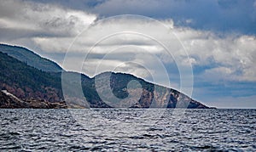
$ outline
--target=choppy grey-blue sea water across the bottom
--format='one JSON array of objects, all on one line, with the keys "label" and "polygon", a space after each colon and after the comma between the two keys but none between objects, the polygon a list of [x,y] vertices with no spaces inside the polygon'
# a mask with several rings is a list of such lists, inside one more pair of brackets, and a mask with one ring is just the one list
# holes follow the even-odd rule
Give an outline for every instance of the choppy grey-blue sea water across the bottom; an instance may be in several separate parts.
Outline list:
[{"label": "choppy grey-blue sea water across the bottom", "polygon": [[256,151],[256,110],[0,110],[2,151]]}]

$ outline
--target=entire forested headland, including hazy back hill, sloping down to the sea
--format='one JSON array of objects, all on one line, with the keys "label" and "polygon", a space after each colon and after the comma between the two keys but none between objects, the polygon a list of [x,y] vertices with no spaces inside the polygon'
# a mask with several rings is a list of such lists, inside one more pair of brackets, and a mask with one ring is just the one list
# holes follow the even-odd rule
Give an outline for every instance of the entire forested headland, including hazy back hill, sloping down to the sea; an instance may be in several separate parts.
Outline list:
[{"label": "entire forested headland, including hazy back hill, sloping down to the sea", "polygon": [[[0,44],[0,70],[0,108],[114,108],[103,102],[98,94],[105,93],[104,87],[99,85],[96,90],[95,79],[101,77],[103,83],[108,76],[115,97],[125,99],[127,103],[137,101],[131,104],[130,108],[176,108],[177,105],[186,105],[188,109],[210,108],[175,89],[154,85],[131,74],[104,72],[89,77],[65,71],[60,65],[40,57],[27,48],[6,44]],[[65,94],[66,100],[61,89],[61,74],[66,75],[67,80],[63,81],[71,86]],[[86,104],[77,96],[76,90],[72,89],[73,84],[77,83],[73,82],[73,76],[81,76]],[[143,91],[140,99],[135,99],[139,89],[137,87],[131,88],[131,94],[127,98],[127,84],[131,81],[141,84]],[[105,95],[108,98],[108,94]],[[123,105],[119,104],[119,108],[122,107]]]}]

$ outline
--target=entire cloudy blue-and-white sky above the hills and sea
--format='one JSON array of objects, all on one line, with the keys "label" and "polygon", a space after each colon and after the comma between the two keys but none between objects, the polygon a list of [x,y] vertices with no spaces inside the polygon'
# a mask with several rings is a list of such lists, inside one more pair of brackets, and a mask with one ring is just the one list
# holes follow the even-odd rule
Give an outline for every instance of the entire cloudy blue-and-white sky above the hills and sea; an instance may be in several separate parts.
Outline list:
[{"label": "entire cloudy blue-and-white sky above the hills and sea", "polygon": [[120,71],[218,108],[256,108],[255,0],[9,0],[0,42],[65,70]]}]

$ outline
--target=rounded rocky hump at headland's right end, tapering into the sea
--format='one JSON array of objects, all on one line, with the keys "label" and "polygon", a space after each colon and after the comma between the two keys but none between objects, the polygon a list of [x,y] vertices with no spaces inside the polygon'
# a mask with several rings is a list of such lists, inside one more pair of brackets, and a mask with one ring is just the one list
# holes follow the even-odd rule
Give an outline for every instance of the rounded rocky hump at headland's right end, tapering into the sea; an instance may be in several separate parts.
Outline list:
[{"label": "rounded rocky hump at headland's right end, tapering into the sea", "polygon": [[[154,85],[141,78],[124,73],[105,72],[100,75],[101,79],[96,81],[97,93],[103,96],[103,101],[112,107],[122,108],[189,108],[207,109],[204,104],[189,98],[187,95],[172,88]],[[97,76],[96,76],[97,77]],[[110,89],[106,81],[110,77]],[[101,82],[102,81],[102,82]],[[132,86],[130,82],[134,83]],[[130,85],[130,88],[128,86]],[[116,104],[118,103],[118,104]]]}]

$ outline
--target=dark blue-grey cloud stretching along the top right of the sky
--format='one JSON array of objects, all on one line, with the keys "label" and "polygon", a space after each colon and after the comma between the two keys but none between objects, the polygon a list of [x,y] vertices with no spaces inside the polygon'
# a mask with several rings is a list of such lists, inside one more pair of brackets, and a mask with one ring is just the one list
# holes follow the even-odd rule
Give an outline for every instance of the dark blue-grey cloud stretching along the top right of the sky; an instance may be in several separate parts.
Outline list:
[{"label": "dark blue-grey cloud stretching along the top right of the sky", "polygon": [[255,35],[256,11],[253,3],[253,0],[109,0],[98,3],[92,11],[102,16],[141,14],[160,20],[172,18],[176,25],[196,30]]}]

